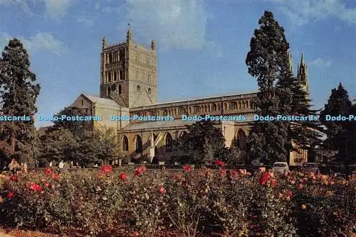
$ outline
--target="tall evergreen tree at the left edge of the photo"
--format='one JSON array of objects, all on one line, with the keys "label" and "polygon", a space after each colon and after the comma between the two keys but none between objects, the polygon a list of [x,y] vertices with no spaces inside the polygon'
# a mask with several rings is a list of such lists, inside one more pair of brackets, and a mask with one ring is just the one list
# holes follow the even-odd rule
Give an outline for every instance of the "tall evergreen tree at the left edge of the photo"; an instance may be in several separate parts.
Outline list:
[{"label": "tall evergreen tree at the left edge of the photo", "polygon": [[41,87],[31,72],[28,53],[20,40],[14,38],[4,48],[0,59],[1,114],[29,116],[30,121],[9,121],[2,124],[3,137],[9,139],[11,154],[29,153],[34,149],[36,99]]}]

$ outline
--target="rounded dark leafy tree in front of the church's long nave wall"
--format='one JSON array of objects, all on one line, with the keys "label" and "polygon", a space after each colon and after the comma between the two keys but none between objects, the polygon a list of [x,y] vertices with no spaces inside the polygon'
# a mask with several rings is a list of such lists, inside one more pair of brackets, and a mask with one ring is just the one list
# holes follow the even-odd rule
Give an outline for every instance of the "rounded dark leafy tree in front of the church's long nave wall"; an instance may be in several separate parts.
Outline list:
[{"label": "rounded dark leafy tree in front of the church's long nave wall", "polygon": [[208,165],[222,160],[225,138],[212,121],[199,121],[187,126],[187,133],[174,141],[174,155],[183,163]]}]

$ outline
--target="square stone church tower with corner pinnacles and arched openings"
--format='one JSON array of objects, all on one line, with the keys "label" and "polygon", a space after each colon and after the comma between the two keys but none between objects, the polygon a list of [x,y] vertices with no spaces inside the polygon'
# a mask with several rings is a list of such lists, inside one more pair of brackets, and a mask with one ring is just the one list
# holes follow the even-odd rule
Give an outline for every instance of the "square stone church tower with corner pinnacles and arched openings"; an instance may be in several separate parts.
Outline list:
[{"label": "square stone church tower with corner pinnacles and arched openings", "polygon": [[133,42],[129,24],[124,42],[108,45],[103,38],[100,65],[100,97],[129,108],[157,104],[155,40],[150,47]]}]

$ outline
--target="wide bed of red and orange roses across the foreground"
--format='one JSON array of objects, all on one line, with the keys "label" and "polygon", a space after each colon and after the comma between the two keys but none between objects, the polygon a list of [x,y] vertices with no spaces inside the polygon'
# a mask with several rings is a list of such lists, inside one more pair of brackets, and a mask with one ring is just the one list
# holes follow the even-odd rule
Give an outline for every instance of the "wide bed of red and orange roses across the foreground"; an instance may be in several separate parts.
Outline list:
[{"label": "wide bed of red and orange roses across the foreground", "polygon": [[3,176],[0,224],[70,236],[352,236],[355,181],[216,165]]}]

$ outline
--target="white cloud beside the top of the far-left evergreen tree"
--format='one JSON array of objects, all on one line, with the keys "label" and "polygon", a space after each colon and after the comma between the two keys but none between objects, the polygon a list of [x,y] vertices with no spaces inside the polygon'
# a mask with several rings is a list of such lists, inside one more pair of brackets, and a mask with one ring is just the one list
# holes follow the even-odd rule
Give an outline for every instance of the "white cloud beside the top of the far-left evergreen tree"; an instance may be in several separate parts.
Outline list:
[{"label": "white cloud beside the top of the far-left evergreen tree", "polygon": [[[4,47],[8,45],[9,40],[12,37],[8,33],[0,34],[0,47],[1,50],[4,50]],[[48,52],[54,53],[56,55],[61,55],[63,52],[66,51],[66,46],[60,41],[53,38],[53,35],[50,33],[38,33],[36,36],[31,38],[23,38],[23,37],[16,37],[19,40],[22,40],[23,45],[25,48],[30,51],[31,53],[35,53],[38,50],[46,50]]]}]

